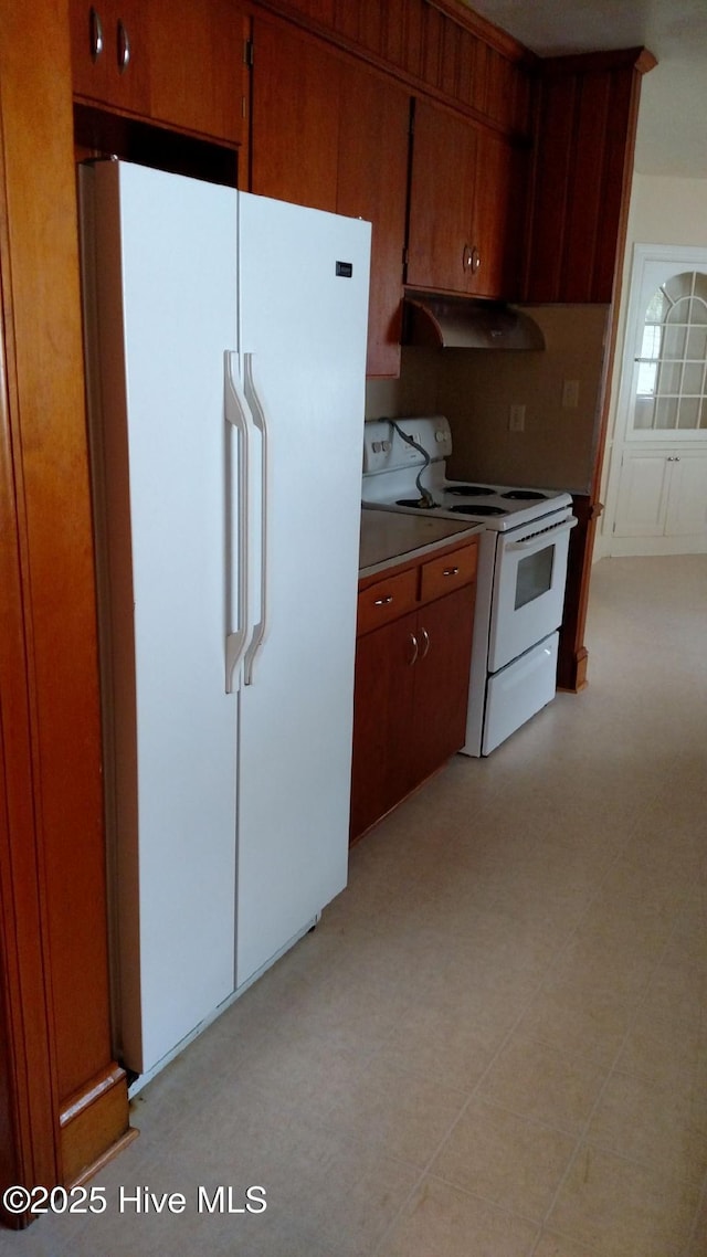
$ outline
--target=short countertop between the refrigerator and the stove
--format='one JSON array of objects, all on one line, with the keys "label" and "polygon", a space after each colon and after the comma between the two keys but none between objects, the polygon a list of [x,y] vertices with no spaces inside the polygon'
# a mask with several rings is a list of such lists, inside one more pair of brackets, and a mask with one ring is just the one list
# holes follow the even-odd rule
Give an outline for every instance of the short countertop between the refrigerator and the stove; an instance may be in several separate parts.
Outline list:
[{"label": "short countertop between the refrigerator and the stove", "polygon": [[440,519],[439,515],[413,515],[364,507],[359,576],[372,576],[396,561],[403,563],[481,532],[483,524],[470,524],[468,519],[455,523],[453,519]]}]

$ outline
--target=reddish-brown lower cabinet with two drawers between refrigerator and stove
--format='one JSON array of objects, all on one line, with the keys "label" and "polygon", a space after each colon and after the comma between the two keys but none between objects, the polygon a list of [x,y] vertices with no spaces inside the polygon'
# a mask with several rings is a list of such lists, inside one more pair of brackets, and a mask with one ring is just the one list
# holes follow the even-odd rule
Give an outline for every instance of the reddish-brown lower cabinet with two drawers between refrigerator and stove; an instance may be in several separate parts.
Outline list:
[{"label": "reddish-brown lower cabinet with two drawers between refrigerator and stove", "polygon": [[464,744],[476,563],[472,541],[360,592],[352,841]]}]

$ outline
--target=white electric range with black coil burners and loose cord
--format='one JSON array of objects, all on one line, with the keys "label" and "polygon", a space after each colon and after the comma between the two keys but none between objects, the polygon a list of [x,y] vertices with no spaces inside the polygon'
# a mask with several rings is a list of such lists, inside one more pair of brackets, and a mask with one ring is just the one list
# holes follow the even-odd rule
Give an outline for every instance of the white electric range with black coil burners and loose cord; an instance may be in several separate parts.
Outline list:
[{"label": "white electric range with black coil burners and loose cord", "polygon": [[367,422],[362,502],[484,524],[462,749],[487,755],[555,696],[576,519],[569,493],[448,479],[450,454],[452,434],[442,415]]}]

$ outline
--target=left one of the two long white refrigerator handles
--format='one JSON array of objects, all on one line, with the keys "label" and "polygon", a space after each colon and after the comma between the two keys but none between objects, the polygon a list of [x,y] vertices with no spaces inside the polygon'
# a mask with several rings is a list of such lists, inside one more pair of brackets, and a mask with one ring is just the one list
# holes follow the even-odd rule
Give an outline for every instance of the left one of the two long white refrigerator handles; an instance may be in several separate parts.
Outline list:
[{"label": "left one of the two long white refrigerator handles", "polygon": [[[245,395],[240,386],[238,372],[238,353],[226,349],[224,353],[224,382],[225,382],[225,420],[230,424],[233,434],[239,439],[238,450],[238,543],[233,547],[233,518],[234,512],[234,485],[233,471],[228,475],[226,497],[226,529],[231,539],[226,546],[226,650],[225,650],[225,683],[226,694],[239,689],[237,678],[238,669],[243,662],[248,642],[253,635],[250,623],[250,432],[253,417]],[[233,468],[233,451],[231,451]],[[237,588],[233,588],[234,549],[237,562]],[[233,595],[238,597],[238,615],[233,613]],[[237,626],[228,630],[228,625],[237,620]]]}]

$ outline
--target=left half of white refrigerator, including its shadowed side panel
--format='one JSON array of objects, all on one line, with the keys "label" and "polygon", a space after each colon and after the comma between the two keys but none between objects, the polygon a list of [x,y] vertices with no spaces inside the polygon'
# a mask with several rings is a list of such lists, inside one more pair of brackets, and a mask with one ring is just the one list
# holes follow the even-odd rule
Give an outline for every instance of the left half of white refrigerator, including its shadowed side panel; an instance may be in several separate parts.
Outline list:
[{"label": "left half of white refrigerator, including its shadowed side panel", "polygon": [[116,1050],[145,1072],[234,989],[223,361],[238,197],[122,162],[82,184]]}]

